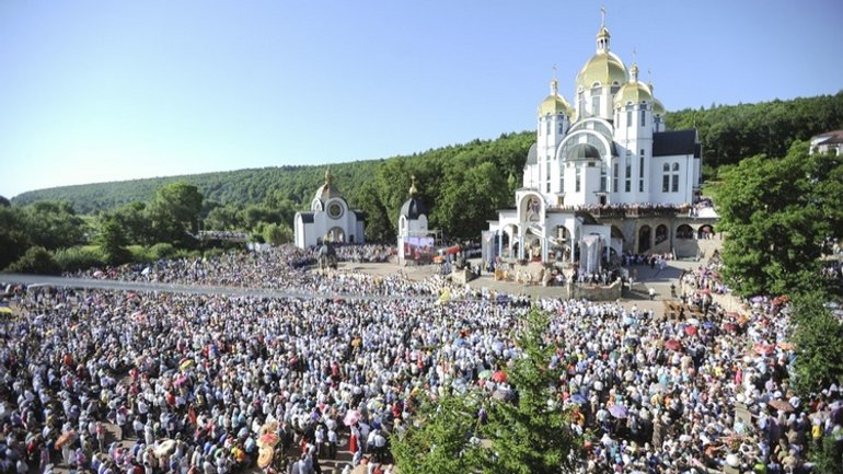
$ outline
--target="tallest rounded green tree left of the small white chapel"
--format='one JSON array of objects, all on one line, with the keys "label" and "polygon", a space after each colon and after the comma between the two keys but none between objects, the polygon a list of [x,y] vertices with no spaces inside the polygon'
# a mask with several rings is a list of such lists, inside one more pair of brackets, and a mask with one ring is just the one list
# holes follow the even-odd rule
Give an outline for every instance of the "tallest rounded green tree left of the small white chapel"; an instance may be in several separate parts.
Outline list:
[{"label": "tallest rounded green tree left of the small white chapel", "polygon": [[177,182],[158,189],[147,207],[152,235],[157,242],[190,245],[198,230],[203,195],[194,185]]}]

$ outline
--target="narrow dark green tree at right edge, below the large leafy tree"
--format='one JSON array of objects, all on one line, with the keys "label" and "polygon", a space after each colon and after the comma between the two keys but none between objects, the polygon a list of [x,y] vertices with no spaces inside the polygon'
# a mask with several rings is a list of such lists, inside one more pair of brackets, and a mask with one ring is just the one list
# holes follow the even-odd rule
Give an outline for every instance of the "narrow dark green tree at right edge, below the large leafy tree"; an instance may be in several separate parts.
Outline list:
[{"label": "narrow dark green tree at right edge, below the large leafy tree", "polygon": [[804,395],[843,382],[843,325],[825,308],[828,301],[821,290],[792,297],[793,385]]}]

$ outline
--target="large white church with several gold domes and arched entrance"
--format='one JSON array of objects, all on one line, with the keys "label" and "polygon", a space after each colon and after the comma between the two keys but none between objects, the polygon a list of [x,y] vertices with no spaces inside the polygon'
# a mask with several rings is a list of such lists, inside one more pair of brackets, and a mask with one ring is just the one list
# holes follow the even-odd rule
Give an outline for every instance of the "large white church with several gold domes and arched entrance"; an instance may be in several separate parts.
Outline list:
[{"label": "large white church with several gold domes and arched entrance", "polygon": [[624,251],[675,252],[713,231],[714,219],[693,210],[702,170],[696,130],[666,130],[653,84],[611,51],[610,37],[603,22],[577,74],[574,105],[554,74],[515,208],[499,210],[484,232],[490,255],[576,262],[596,273]]}]

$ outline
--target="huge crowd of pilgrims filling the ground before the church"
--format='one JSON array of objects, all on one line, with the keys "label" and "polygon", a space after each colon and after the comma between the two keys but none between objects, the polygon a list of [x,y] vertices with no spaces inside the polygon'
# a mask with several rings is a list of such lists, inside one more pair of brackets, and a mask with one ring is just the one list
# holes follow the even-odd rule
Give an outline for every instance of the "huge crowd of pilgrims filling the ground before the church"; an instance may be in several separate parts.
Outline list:
[{"label": "huge crowd of pilgrims filling the ground before the church", "polygon": [[[2,472],[235,473],[255,466],[270,426],[279,454],[266,471],[369,462],[367,472],[392,473],[389,439],[413,423],[419,396],[478,390],[499,403],[493,394],[512,390],[487,374],[520,356],[529,305],[465,288],[442,303],[449,284],[438,276],[316,275],[285,263],[300,256],[238,253],[104,277],[301,298],[18,288],[20,315],[0,322]],[[719,472],[727,462],[809,472],[811,444],[843,439],[838,386],[801,400],[788,385],[785,303],[759,298],[725,312],[706,291],[716,273],[694,275],[684,292],[707,304],[693,320],[533,302],[552,315],[555,393],[574,409],[559,429],[587,437],[578,472]],[[326,289],[401,298],[304,297]]]}]

